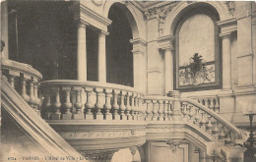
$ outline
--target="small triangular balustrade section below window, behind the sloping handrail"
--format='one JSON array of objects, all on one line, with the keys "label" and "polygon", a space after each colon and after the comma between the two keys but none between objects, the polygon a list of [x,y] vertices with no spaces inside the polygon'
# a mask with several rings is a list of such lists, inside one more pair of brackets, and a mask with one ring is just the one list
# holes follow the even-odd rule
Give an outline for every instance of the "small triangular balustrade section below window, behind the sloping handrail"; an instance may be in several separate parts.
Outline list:
[{"label": "small triangular balustrade section below window, behind the sloping handrail", "polygon": [[189,97],[191,99],[197,100],[198,103],[208,107],[216,113],[220,112],[220,99],[217,95],[215,96],[200,96],[200,97]]}]

